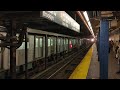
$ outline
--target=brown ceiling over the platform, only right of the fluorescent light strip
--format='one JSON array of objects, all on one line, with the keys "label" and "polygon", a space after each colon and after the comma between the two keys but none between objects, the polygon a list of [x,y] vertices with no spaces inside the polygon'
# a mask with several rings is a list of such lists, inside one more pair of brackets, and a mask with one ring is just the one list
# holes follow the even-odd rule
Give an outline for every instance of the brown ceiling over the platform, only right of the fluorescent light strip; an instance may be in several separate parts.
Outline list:
[{"label": "brown ceiling over the platform, only right of the fluorescent light strip", "polygon": [[[90,21],[93,27],[93,30],[95,33],[98,33],[99,31],[99,27],[100,27],[100,18],[99,16],[95,16],[94,13],[96,11],[88,11],[88,14],[90,16]],[[101,11],[101,13],[103,12],[104,15],[108,16],[108,21],[109,21],[109,31],[113,31],[115,29],[118,29],[120,27],[120,11]],[[116,25],[115,22],[112,21],[116,21]]]}]

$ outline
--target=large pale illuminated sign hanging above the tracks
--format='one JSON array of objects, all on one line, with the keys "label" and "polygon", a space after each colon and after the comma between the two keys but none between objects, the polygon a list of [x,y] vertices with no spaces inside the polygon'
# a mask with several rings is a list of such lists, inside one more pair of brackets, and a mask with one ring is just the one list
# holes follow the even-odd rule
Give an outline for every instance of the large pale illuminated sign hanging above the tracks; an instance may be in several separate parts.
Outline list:
[{"label": "large pale illuminated sign hanging above the tracks", "polygon": [[47,18],[76,32],[80,32],[80,25],[65,11],[42,11],[41,17]]}]

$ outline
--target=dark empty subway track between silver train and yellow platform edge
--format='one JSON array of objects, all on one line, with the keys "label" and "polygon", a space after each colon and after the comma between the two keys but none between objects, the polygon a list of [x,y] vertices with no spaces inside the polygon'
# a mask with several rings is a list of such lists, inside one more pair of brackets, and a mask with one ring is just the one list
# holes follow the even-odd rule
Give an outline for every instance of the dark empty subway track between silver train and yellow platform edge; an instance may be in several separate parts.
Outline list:
[{"label": "dark empty subway track between silver train and yellow platform edge", "polygon": [[87,48],[82,46],[79,51],[63,58],[63,60],[43,72],[31,76],[30,79],[68,79],[90,47],[91,45],[88,45]]}]

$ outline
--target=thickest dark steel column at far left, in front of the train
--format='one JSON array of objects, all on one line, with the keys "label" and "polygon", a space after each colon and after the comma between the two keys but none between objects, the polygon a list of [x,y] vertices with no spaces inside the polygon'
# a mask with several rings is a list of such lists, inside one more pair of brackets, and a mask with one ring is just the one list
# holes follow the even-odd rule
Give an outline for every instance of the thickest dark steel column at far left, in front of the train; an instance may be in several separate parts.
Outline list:
[{"label": "thickest dark steel column at far left, in front of the train", "polygon": [[[4,26],[7,28],[7,35],[10,38],[12,44],[15,43],[15,30],[13,28],[13,21],[6,19]],[[10,46],[10,78],[16,79],[16,47]]]}]

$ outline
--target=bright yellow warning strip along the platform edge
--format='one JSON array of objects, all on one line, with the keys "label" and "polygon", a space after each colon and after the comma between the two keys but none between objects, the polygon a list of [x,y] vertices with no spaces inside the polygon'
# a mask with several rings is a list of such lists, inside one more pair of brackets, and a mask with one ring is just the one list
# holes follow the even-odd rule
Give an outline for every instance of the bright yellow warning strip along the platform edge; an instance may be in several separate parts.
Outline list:
[{"label": "bright yellow warning strip along the platform edge", "polygon": [[69,79],[86,79],[91,62],[92,53],[93,53],[93,46],[89,49],[89,51],[82,59],[81,63],[76,67],[76,69],[71,74]]}]

